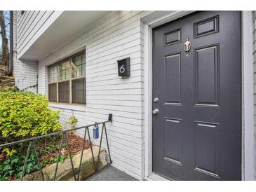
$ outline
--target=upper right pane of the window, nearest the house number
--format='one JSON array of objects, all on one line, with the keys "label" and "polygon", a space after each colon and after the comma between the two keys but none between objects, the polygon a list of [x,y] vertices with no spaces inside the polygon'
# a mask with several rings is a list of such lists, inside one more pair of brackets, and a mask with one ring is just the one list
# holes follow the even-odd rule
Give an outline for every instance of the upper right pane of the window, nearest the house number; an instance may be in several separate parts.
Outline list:
[{"label": "upper right pane of the window, nearest the house number", "polygon": [[86,75],[86,53],[72,57],[72,78]]}]

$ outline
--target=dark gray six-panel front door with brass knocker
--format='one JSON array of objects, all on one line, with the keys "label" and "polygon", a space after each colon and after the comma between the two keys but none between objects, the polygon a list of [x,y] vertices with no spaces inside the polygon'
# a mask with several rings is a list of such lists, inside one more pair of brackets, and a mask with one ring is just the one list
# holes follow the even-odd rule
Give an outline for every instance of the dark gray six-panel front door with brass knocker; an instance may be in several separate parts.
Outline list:
[{"label": "dark gray six-panel front door with brass knocker", "polygon": [[240,12],[194,13],[154,28],[155,97],[153,172],[241,180]]}]

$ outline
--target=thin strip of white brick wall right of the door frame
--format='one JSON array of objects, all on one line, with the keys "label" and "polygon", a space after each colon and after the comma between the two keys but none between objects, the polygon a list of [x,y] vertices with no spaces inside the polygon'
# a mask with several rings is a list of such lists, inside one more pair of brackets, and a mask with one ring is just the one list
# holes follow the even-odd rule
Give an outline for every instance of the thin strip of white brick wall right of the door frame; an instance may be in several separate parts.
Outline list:
[{"label": "thin strip of white brick wall right of the door frame", "polygon": [[253,58],[254,58],[254,61],[253,61],[253,66],[254,66],[254,115],[255,115],[255,123],[254,123],[254,144],[255,144],[255,180],[256,180],[256,11],[252,11],[252,19],[253,19],[253,27],[252,27],[252,30],[253,30]]}]

